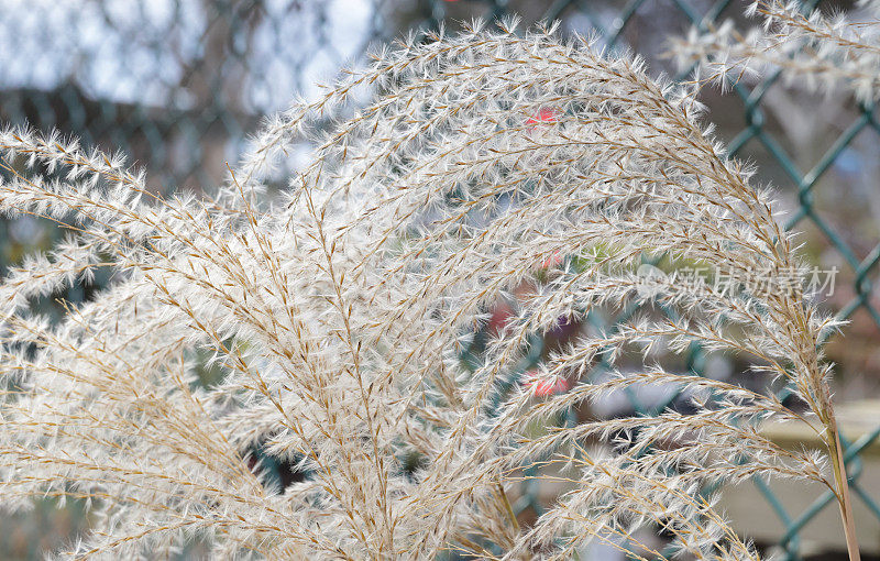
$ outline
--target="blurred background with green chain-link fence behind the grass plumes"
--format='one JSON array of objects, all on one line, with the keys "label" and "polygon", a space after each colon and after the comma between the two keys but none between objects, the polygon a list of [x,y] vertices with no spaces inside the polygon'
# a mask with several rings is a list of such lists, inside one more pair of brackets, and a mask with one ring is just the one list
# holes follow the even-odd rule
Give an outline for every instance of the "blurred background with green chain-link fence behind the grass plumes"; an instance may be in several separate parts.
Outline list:
[{"label": "blurred background with green chain-link fence behind the grass plumes", "polygon": [[[147,170],[156,191],[209,191],[264,116],[283,110],[294,96],[317,96],[318,82],[332,80],[343,66],[363,64],[372,43],[441,24],[454,31],[458,22],[473,18],[517,14],[525,25],[558,19],[563,34],[598,34],[609,51],[645,57],[651,73],[688,79],[664,56],[670,37],[725,19],[747,29],[755,22],[744,19],[744,7],[733,0],[0,0],[0,121],[57,129],[86,145],[124,152]],[[848,2],[818,8],[859,16]],[[868,554],[878,554],[877,113],[846,94],[809,94],[773,75],[725,92],[706,89],[702,99],[718,136],[755,165],[759,183],[779,193],[788,226],[801,232],[811,264],[838,271],[835,289],[821,297],[821,306],[849,320],[831,338],[827,353],[837,364],[834,386],[844,404],[860,538]],[[294,154],[292,165],[306,148]],[[47,249],[59,235],[38,219],[0,220],[0,268]],[[56,296],[82,301],[106,282],[99,276]],[[499,302],[494,320],[502,321],[505,306],[512,305]],[[44,306],[50,314],[58,310],[51,298]],[[591,317],[590,323],[618,319]],[[557,336],[570,333],[563,329]],[[525,364],[524,372],[531,365]],[[757,383],[747,364],[700,349],[681,367]],[[652,413],[674,407],[681,397],[646,389],[612,396],[592,414]],[[774,438],[811,446],[785,431]],[[768,551],[783,559],[843,559],[842,542],[834,538],[842,534],[835,526],[836,506],[820,490],[756,481],[737,496],[727,505],[732,517]],[[524,488],[519,498],[521,516],[540,514],[540,488]],[[32,513],[0,519],[0,559],[40,558],[47,548],[75,539],[87,525],[80,505],[38,503]],[[199,557],[199,550],[194,546],[182,557]]]}]

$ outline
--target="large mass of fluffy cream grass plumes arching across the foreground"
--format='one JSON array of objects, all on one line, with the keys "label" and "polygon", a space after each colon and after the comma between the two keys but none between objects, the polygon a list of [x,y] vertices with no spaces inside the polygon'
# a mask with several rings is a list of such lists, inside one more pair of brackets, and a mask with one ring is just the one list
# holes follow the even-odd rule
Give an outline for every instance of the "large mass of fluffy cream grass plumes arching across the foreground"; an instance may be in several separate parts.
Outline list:
[{"label": "large mass of fluffy cream grass plumes arching across the foreground", "polygon": [[[686,90],[594,41],[514,28],[381,50],[270,120],[210,199],[158,198],[119,156],[3,132],[3,211],[70,232],[0,288],[3,508],[85,499],[76,559],[164,557],[193,539],[223,559],[563,559],[652,526],[674,546],[646,557],[759,559],[701,494],[758,475],[827,485],[849,532],[818,350],[835,322],[782,283],[801,262],[772,199]],[[266,201],[302,142],[310,164]],[[493,302],[560,255],[463,361]],[[639,290],[638,266],[660,255],[735,282]],[[113,280],[92,301],[56,324],[34,311],[98,267]],[[756,272],[772,289],[749,288]],[[648,311],[580,333],[518,383],[531,334],[634,305]],[[752,361],[804,409],[654,352],[692,343]],[[206,351],[216,384],[198,382]],[[600,362],[613,375],[592,378]],[[566,391],[535,395],[560,380]],[[689,389],[694,413],[551,422],[654,383]],[[827,453],[780,448],[758,431],[768,419],[806,421]],[[256,448],[301,481],[275,483]],[[520,521],[515,484],[561,473],[547,466],[570,485]]]}]

